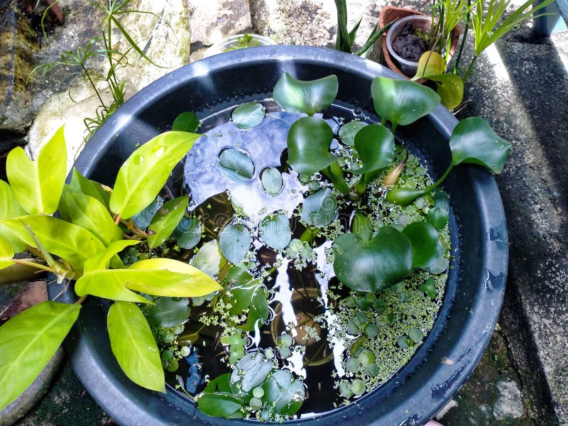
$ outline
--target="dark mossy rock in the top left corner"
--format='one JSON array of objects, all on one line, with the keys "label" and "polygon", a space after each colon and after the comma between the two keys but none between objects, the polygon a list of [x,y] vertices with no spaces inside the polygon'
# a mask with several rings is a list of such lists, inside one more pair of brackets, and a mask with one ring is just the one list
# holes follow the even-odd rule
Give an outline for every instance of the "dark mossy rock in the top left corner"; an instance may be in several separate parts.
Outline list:
[{"label": "dark mossy rock in the top left corner", "polygon": [[[37,47],[35,32],[18,2],[0,0],[0,131],[23,134],[31,124],[32,99],[26,79]],[[3,146],[2,152],[11,147]]]}]

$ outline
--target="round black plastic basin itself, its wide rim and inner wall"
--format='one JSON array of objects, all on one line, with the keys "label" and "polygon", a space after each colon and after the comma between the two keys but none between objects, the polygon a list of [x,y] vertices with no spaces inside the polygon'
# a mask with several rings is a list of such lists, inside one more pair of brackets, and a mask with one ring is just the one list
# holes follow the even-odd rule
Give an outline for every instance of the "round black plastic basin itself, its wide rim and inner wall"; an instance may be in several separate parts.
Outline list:
[{"label": "round black plastic basin itself, its wide rim and inner wall", "polygon": [[[385,67],[354,55],[323,48],[269,46],[236,50],[194,62],[150,84],[126,102],[92,137],[76,167],[89,178],[112,184],[136,143],[165,131],[183,111],[202,118],[232,104],[270,97],[283,72],[301,80],[335,74],[338,102],[378,119],[371,80],[396,77]],[[449,163],[447,139],[457,124],[438,107],[400,138],[439,176]],[[444,185],[452,199],[452,268],[446,295],[432,332],[413,359],[375,391],[349,406],[288,423],[310,425],[421,425],[439,411],[474,370],[488,344],[505,290],[508,242],[503,206],[493,177],[474,165],[461,165]],[[62,290],[50,286],[50,296]],[[75,300],[72,289],[59,300]],[[202,415],[195,405],[168,391],[162,395],[129,381],[111,354],[106,330],[107,303],[90,297],[65,341],[77,376],[102,408],[121,425],[241,425]]]}]

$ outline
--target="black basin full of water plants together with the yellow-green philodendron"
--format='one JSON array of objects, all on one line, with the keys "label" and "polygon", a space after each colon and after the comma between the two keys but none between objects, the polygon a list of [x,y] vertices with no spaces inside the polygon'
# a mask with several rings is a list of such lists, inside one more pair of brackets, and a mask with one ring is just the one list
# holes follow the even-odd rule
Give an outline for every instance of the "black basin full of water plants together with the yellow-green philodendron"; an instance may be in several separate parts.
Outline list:
[{"label": "black basin full of water plants together with the yellow-green philodendron", "polygon": [[[344,349],[334,345],[334,364],[344,372],[337,383],[321,388],[337,386],[339,400],[350,402],[312,417],[300,414],[290,422],[427,421],[479,361],[498,316],[506,279],[506,227],[495,182],[479,165],[498,172],[509,145],[481,119],[458,124],[437,107],[439,97],[427,87],[386,77],[393,74],[380,65],[320,48],[237,50],[177,70],[135,95],[114,113],[116,121],[107,121],[93,136],[77,160],[69,186],[62,185],[65,170],[52,155],[54,146],[62,143],[58,137],[45,148],[38,164],[26,162],[21,154],[15,157],[15,180],[2,188],[9,195],[6,188],[13,191],[19,186],[20,195],[9,204],[12,209],[2,212],[1,225],[16,238],[2,245],[2,261],[13,262],[10,251],[23,240],[36,247],[35,253],[40,250],[49,260],[48,268],[60,278],[77,280],[75,291],[65,282],[50,286],[52,299],[70,303],[50,302],[49,312],[40,312],[48,319],[40,329],[53,334],[53,341],[37,338],[37,347],[18,341],[22,323],[16,320],[7,327],[11,342],[22,349],[14,354],[4,339],[9,323],[0,328],[2,380],[19,378],[15,368],[28,376],[32,368],[23,368],[18,354],[37,351],[45,356],[43,349],[58,344],[71,328],[64,346],[77,375],[119,423],[246,424],[246,418],[240,417],[247,415],[285,420],[298,413],[302,403],[307,406],[309,399],[302,382],[310,376],[295,369],[297,359],[302,359],[301,338],[321,339],[318,327],[326,324],[329,334],[350,344]],[[398,96],[402,93],[408,96]],[[411,99],[411,104],[400,103],[402,98]],[[196,111],[197,117],[188,110]],[[196,142],[200,135],[187,133],[196,130],[197,118],[199,131],[208,136],[202,145]],[[173,131],[161,132],[172,123]],[[334,131],[341,141],[334,139]],[[267,138],[271,143],[266,143]],[[395,138],[403,146],[395,148]],[[450,146],[444,143],[448,139]],[[175,168],[194,143],[185,165]],[[281,157],[285,149],[287,155]],[[46,161],[59,164],[57,174],[43,171]],[[461,163],[476,165],[454,169]],[[35,215],[31,207],[21,206],[21,194],[29,194],[21,188],[26,188],[25,182],[36,182],[38,175],[42,182],[51,182],[55,194],[58,187],[66,188],[58,207],[72,223]],[[432,193],[442,180],[449,202],[442,192]],[[113,188],[105,190],[93,181]],[[165,182],[164,200],[159,200],[156,196]],[[217,185],[229,184],[230,197],[216,191]],[[187,194],[188,189],[193,204],[192,214],[186,215],[188,197],[176,192]],[[31,199],[33,206],[38,201],[49,204],[38,213],[53,212],[53,200],[59,197],[45,189],[40,195],[22,200]],[[383,203],[378,198],[385,195],[388,208],[397,212],[395,217],[388,212],[376,216]],[[98,204],[82,202],[84,197]],[[278,204],[280,197],[288,204]],[[99,204],[100,214],[92,214]],[[77,214],[87,208],[89,214]],[[335,215],[342,209],[346,222],[337,222]],[[288,210],[291,217],[285,214]],[[427,220],[415,221],[419,217]],[[99,225],[104,222],[104,228],[92,226],[93,218],[101,218]],[[92,229],[91,234],[110,229],[112,233],[104,232],[102,237],[108,234],[115,240],[104,243],[70,226],[74,221],[82,221],[75,226]],[[65,226],[64,241],[80,241],[81,250],[73,249],[76,243],[54,239],[54,230],[62,232],[53,226],[50,231],[50,222]],[[46,249],[42,240],[51,248]],[[324,246],[324,241],[329,244]],[[451,257],[440,241],[449,244]],[[144,244],[148,251],[131,249]],[[183,246],[189,248],[182,251]],[[48,251],[64,254],[67,262],[51,259]],[[183,261],[169,258],[172,252]],[[116,253],[121,256],[116,258]],[[153,258],[156,253],[163,257]],[[146,255],[151,258],[145,259]],[[107,269],[110,263],[115,269]],[[315,265],[324,275],[315,274]],[[300,274],[297,280],[289,279],[288,267]],[[343,285],[332,282],[332,273]],[[99,280],[102,275],[108,279]],[[404,285],[396,284],[400,280]],[[316,288],[318,296],[308,288]],[[273,339],[278,332],[271,332],[266,324],[271,343],[263,346],[259,328],[271,317],[267,305],[273,292],[282,301],[280,317],[285,318],[286,328]],[[87,294],[103,298],[84,299]],[[308,315],[311,309],[304,310],[300,322],[290,324],[287,306],[294,300],[294,312],[301,305],[298,297],[318,302],[308,303],[315,306],[316,317]],[[412,305],[405,305],[410,300],[430,306],[438,298],[441,305],[434,303],[431,312],[436,312],[436,319],[430,316],[427,336],[415,320],[397,321],[391,310],[397,305],[400,315],[405,315],[411,311]],[[320,315],[321,305],[325,312],[336,312],[339,327]],[[51,321],[54,310],[57,322]],[[185,320],[178,317],[180,312]],[[346,315],[349,312],[354,315]],[[129,318],[136,320],[130,326]],[[192,328],[194,319],[201,322],[201,329]],[[36,328],[41,324],[24,323]],[[138,341],[131,327],[136,327]],[[37,331],[28,327],[32,336]],[[394,334],[383,343],[397,354],[391,360],[403,359],[404,354],[408,359],[400,368],[390,366],[395,374],[372,389],[371,383],[378,384],[373,378],[381,372],[378,354],[368,345],[380,332],[389,331]],[[162,345],[158,360],[155,340]],[[220,352],[215,346],[212,354],[202,352],[202,342],[219,344]],[[229,373],[211,375],[205,386],[202,368],[210,366],[218,352],[229,364]],[[317,364],[314,368],[322,366]],[[173,374],[167,388],[158,373],[163,368]],[[311,377],[315,378],[315,387],[309,388],[312,393],[318,381],[321,385],[324,378],[333,378],[329,373]],[[190,389],[195,383],[197,388]],[[185,391],[199,394],[197,404]],[[208,415],[239,418],[212,420]]]}]

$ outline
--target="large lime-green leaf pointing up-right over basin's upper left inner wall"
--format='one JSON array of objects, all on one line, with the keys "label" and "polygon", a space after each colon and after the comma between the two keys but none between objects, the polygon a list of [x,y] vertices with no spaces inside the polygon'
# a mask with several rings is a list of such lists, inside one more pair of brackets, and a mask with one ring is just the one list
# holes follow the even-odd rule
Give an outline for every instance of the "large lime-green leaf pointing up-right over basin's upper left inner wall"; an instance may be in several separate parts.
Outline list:
[{"label": "large lime-green leaf pointing up-right over basin's upper left inner wall", "polygon": [[185,131],[167,131],[136,149],[116,176],[111,210],[124,219],[141,212],[153,202],[175,165],[200,137]]}]

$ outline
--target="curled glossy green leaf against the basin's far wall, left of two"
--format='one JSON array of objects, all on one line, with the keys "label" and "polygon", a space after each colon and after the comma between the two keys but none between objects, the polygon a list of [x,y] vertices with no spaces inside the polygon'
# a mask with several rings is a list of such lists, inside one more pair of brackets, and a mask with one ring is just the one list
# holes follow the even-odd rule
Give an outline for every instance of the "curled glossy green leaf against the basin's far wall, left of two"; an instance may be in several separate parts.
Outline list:
[{"label": "curled glossy green leaf against the basin's far wall, left of two", "polygon": [[339,82],[335,75],[303,81],[285,72],[276,82],[272,97],[284,111],[312,116],[334,102],[338,89]]}]

